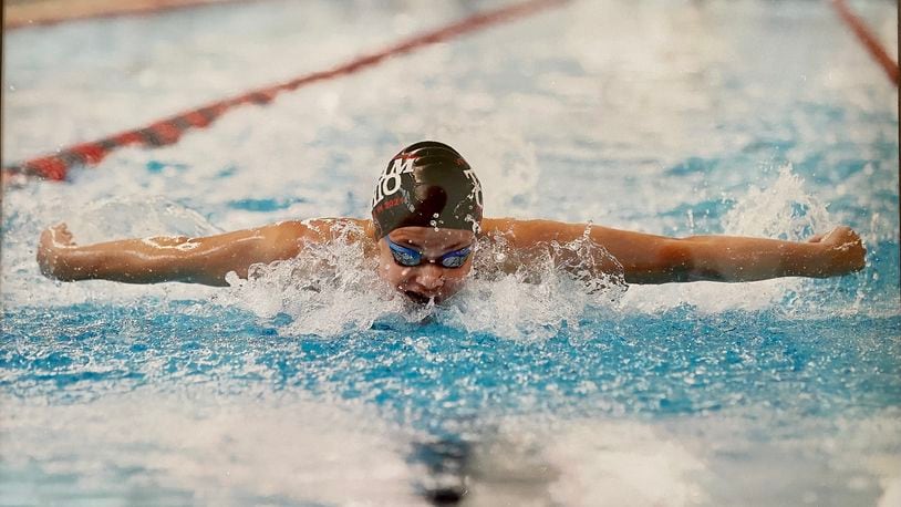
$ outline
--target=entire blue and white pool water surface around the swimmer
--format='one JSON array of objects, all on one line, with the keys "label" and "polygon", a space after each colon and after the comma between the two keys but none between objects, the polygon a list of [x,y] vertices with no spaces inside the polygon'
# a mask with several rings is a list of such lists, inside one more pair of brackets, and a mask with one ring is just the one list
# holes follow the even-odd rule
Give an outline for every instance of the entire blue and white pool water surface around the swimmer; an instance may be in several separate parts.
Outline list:
[{"label": "entire blue and white pool water surface around the swimmer", "polygon": [[[255,2],[10,32],[4,165],[320,70],[496,2]],[[858,11],[888,48],[897,7]],[[897,55],[895,55],[897,58]],[[3,198],[0,503],[894,505],[897,90],[820,2],[571,2]],[[85,242],[365,216],[424,137],[486,215],[802,239],[832,280],[476,280],[410,311],[349,246],[231,289],[43,279]],[[490,251],[480,269],[490,270]],[[319,292],[297,272],[334,266]],[[304,281],[307,279],[304,278]]]}]

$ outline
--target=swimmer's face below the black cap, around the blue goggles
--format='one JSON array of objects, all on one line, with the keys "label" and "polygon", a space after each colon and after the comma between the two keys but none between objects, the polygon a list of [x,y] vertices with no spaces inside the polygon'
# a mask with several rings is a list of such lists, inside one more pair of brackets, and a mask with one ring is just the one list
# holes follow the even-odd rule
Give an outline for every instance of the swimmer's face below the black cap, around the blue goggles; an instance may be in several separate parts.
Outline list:
[{"label": "swimmer's face below the black cap, around the blue goggles", "polygon": [[379,275],[414,301],[426,302],[434,298],[441,302],[454,296],[473,270],[472,254],[459,268],[445,268],[439,260],[445,254],[473,246],[476,235],[469,230],[401,227],[387,237],[423,255],[420,266],[401,266],[394,260],[385,238],[379,240]]}]

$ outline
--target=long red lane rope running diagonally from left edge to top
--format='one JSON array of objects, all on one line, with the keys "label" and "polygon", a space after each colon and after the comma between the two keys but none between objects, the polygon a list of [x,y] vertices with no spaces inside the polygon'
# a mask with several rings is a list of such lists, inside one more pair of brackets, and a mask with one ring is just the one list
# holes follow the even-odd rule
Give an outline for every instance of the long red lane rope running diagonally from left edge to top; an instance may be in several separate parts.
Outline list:
[{"label": "long red lane rope running diagonally from left edge to top", "polygon": [[526,17],[550,7],[562,6],[568,0],[529,0],[522,3],[474,14],[443,28],[414,35],[382,51],[359,56],[327,71],[313,72],[284,83],[253,90],[242,95],[214,102],[203,107],[154,122],[142,128],[123,132],[100,141],[70,146],[51,155],[31,158],[20,164],[4,167],[2,179],[4,183],[12,183],[23,177],[37,176],[44,179],[62,180],[65,179],[65,176],[73,166],[97,164],[113,151],[123,146],[138,145],[156,147],[174,144],[178,142],[186,131],[190,128],[204,128],[227,111],[239,105],[267,104],[281,92],[293,91],[319,81],[360,72],[391,56],[410,53],[426,45],[464,35],[493,24]]}]

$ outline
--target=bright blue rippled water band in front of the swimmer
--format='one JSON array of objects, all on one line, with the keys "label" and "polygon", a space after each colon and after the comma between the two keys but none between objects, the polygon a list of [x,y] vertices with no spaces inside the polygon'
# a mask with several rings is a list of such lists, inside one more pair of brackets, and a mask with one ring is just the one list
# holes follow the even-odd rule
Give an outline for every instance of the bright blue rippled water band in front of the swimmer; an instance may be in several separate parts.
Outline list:
[{"label": "bright blue rippled water band in front of the swimmer", "polygon": [[[528,397],[535,397],[529,411],[664,417],[748,405],[786,416],[835,416],[901,402],[901,344],[884,339],[897,330],[897,317],[797,321],[736,311],[698,318],[676,308],[586,317],[587,329],[563,329],[540,343],[462,334],[436,323],[379,323],[317,340],[279,337],[279,319],[234,311],[195,315],[191,304],[8,313],[18,325],[10,333],[15,346],[4,348],[0,363],[2,385],[22,397],[91,400],[112,384],[134,390],[215,384],[227,376],[250,391],[363,397],[414,413],[410,423],[438,431],[446,418],[516,413]],[[111,332],[112,322],[134,329]],[[857,332],[849,335],[849,329]],[[242,372],[248,360],[260,368]],[[436,386],[446,394],[435,396]]]}]

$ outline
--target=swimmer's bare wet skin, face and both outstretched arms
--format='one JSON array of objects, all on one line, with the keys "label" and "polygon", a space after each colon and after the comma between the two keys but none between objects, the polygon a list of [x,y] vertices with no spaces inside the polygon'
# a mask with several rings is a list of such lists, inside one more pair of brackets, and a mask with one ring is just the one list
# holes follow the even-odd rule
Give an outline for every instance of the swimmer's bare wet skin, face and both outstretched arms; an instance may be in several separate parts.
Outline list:
[{"label": "swimmer's bare wet skin, face and both outstretched arms", "polygon": [[[626,283],[715,280],[728,282],[778,277],[835,277],[866,266],[860,236],[846,226],[807,241],[737,236],[669,238],[584,224],[552,220],[485,218],[481,235],[498,238],[510,254],[498,267],[515,272],[530,262],[530,252],[552,242],[590,240],[603,247],[594,273],[621,273]],[[468,230],[407,227],[391,232],[392,241],[421,251],[426,261],[469,246]],[[37,261],[46,277],[62,280],[114,280],[127,283],[180,281],[228,286],[226,275],[248,277],[248,267],[292,259],[304,245],[360,241],[364,255],[379,259],[380,277],[414,300],[442,301],[456,293],[472,271],[472,259],[456,269],[424,262],[398,266],[384,239],[375,240],[371,220],[317,218],[289,220],[201,238],[155,237],[76,245],[64,224],[43,231]],[[555,250],[562,269],[576,267],[574,250]],[[578,272],[583,275],[581,271]]]}]

